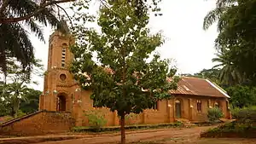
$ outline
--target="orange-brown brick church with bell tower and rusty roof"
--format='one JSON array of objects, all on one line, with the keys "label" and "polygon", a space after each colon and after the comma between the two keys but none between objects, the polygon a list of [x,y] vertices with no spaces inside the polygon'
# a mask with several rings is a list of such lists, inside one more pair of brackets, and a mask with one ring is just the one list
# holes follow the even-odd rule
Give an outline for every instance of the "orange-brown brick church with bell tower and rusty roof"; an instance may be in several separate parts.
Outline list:
[{"label": "orange-brown brick church with bell tower and rusty roof", "polygon": [[[79,84],[68,71],[73,54],[68,49],[73,40],[55,31],[49,36],[48,68],[44,76],[44,93],[40,96],[39,110],[70,112],[76,126],[88,125],[84,110],[93,107],[90,91],[79,88]],[[182,77],[177,90],[170,90],[171,100],[158,101],[152,109],[136,115],[132,123],[172,123],[179,118],[191,122],[207,121],[207,110],[219,107],[225,118],[230,118],[229,95],[218,85],[207,79]],[[119,125],[116,112],[101,108],[107,125]]]}]

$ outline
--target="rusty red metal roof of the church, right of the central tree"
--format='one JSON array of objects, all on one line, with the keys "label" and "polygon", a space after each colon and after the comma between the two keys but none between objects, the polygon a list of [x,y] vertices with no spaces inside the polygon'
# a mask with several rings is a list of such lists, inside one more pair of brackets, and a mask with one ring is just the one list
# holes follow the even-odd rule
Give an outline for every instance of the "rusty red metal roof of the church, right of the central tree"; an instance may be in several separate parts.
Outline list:
[{"label": "rusty red metal roof of the church, right of the central tree", "polygon": [[217,84],[207,79],[192,77],[182,77],[177,84],[177,89],[170,90],[170,93],[230,98]]}]

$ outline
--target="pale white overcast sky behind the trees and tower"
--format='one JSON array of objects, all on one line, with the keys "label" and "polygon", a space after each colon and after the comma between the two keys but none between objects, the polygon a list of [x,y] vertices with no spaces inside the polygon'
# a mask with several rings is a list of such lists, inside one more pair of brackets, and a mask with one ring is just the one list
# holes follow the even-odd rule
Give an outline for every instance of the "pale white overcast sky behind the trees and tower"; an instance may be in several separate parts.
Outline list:
[{"label": "pale white overcast sky behind the trees and tower", "polygon": [[[165,43],[158,49],[161,58],[172,58],[172,65],[177,66],[177,74],[200,72],[203,68],[214,66],[214,40],[218,36],[216,26],[207,31],[202,29],[203,19],[207,12],[214,9],[212,0],[162,0],[160,8],[162,16],[151,16],[149,28],[151,32],[162,32]],[[91,11],[96,11],[97,5]],[[50,27],[44,27],[46,43],[40,42],[31,35],[35,47],[36,58],[43,60],[47,67]],[[33,77],[38,85],[30,85],[33,89],[44,89],[44,78]]]}]

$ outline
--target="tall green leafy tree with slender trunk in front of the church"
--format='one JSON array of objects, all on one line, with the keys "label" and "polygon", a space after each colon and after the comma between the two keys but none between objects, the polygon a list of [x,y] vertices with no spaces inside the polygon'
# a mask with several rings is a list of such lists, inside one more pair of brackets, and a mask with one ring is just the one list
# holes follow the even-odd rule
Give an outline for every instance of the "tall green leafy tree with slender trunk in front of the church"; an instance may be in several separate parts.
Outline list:
[{"label": "tall green leafy tree with slender trunk in front of the church", "polygon": [[[107,1],[97,20],[101,32],[77,27],[70,71],[83,89],[91,89],[96,107],[118,112],[121,143],[125,143],[125,115],[140,113],[155,102],[170,98],[177,88],[176,69],[169,60],[153,54],[163,41],[160,34],[149,34],[148,8],[137,15],[136,1]],[[96,53],[96,60],[93,60]],[[148,60],[152,55],[152,60]],[[172,80],[167,81],[167,78]]]}]

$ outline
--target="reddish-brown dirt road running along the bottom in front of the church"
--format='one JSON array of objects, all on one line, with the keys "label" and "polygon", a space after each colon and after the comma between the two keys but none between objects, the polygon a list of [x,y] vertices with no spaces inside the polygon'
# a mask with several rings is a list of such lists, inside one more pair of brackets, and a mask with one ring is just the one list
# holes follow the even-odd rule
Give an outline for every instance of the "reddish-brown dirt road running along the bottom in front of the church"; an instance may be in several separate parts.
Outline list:
[{"label": "reddish-brown dirt road running along the bottom in front of the church", "polygon": [[[191,129],[159,129],[159,130],[137,130],[127,132],[127,143],[141,144],[256,144],[254,139],[200,139],[201,131],[207,130],[210,127],[196,127]],[[120,135],[118,134],[103,134],[93,137],[84,137],[82,139],[67,140],[67,141],[48,141],[40,144],[113,144],[119,143]]]}]

